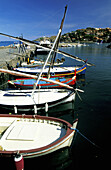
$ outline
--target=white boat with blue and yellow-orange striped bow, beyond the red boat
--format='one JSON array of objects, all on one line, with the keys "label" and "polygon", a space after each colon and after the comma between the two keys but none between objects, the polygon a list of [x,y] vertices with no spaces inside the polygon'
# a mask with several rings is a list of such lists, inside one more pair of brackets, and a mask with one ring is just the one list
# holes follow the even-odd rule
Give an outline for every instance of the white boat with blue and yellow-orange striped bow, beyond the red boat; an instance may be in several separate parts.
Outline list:
[{"label": "white boat with blue and yellow-orange striped bow, beyond the red boat", "polygon": [[[75,66],[75,67],[53,67],[50,69],[50,75],[51,77],[63,77],[63,76],[70,76],[75,74],[85,74],[87,65],[83,66]],[[22,73],[28,73],[28,74],[40,74],[41,69],[39,67],[36,68],[14,68],[15,71],[22,72]],[[45,68],[43,71],[43,76],[47,76],[49,68]]]}]

